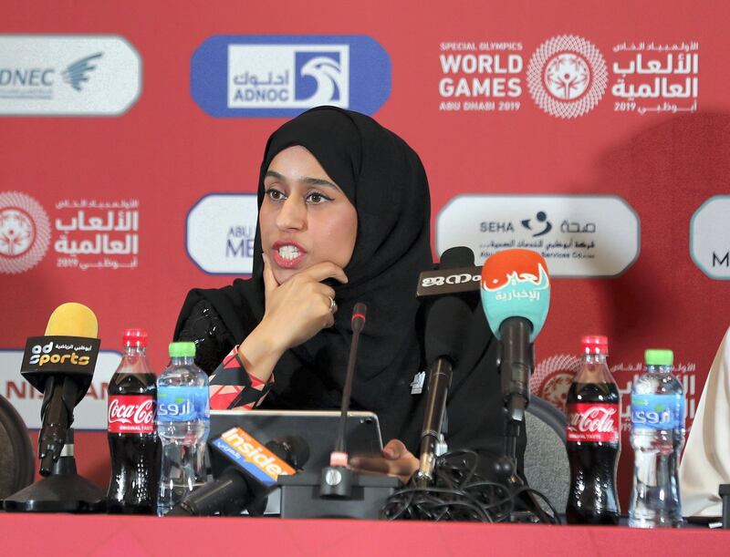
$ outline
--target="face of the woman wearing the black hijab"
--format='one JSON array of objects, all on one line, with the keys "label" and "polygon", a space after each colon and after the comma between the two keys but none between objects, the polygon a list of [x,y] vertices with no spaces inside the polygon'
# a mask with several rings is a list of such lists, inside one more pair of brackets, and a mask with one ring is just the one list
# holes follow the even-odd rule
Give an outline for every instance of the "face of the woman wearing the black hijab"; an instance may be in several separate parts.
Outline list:
[{"label": "face of the woman wearing the black hijab", "polygon": [[279,152],[266,171],[264,191],[261,245],[279,284],[316,263],[349,263],[358,213],[307,149]]}]

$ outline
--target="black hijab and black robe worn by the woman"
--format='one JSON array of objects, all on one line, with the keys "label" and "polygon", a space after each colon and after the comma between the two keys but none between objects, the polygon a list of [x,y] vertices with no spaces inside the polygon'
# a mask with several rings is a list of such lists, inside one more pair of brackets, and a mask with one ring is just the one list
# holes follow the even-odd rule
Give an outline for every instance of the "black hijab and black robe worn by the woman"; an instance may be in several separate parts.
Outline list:
[{"label": "black hijab and black robe worn by the woman", "polygon": [[[412,376],[422,369],[422,333],[417,326],[418,274],[431,268],[430,196],[418,155],[397,135],[357,112],[333,107],[308,110],[277,129],[266,144],[258,181],[258,206],[271,160],[299,145],[312,153],[358,213],[348,284],[334,287],[335,325],[291,348],[274,369],[266,407],[336,408],[344,386],[354,304],[368,305],[360,336],[352,407],[379,414],[384,437],[398,435],[410,404]],[[265,294],[260,229],[256,226],[251,278],[217,290],[193,290],[183,306],[177,333],[199,300],[220,315],[233,343],[240,343],[263,318]],[[401,410],[394,413],[393,408]]]}]

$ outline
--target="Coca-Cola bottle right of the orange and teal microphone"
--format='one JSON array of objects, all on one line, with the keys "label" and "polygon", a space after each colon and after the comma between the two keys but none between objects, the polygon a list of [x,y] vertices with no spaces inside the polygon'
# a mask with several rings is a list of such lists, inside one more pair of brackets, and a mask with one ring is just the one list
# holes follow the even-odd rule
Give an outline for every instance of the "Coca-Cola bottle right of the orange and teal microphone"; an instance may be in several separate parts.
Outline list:
[{"label": "Coca-Cola bottle right of the orange and teal microphone", "polygon": [[583,364],[568,391],[571,524],[618,524],[616,467],[620,454],[619,387],[610,375],[605,336],[583,336]]}]

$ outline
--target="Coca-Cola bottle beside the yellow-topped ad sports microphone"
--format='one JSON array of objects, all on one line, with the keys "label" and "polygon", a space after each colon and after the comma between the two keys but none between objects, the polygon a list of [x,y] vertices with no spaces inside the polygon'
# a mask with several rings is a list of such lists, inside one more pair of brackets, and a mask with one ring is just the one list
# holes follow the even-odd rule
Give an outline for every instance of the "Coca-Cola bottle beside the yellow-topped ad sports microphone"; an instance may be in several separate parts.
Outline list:
[{"label": "Coca-Cola bottle beside the yellow-topped ad sports microphone", "polygon": [[125,329],[124,356],[109,384],[109,512],[153,514],[160,480],[155,428],[156,377],[145,354],[147,333]]}]

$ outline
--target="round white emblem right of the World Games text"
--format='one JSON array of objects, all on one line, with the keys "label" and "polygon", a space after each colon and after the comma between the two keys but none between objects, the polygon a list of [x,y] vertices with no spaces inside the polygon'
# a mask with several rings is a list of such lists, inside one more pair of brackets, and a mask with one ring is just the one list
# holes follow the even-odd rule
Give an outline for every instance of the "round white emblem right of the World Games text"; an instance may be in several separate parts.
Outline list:
[{"label": "round white emblem right of the World Games text", "polygon": [[556,118],[577,118],[592,110],[608,85],[606,61],[596,46],[575,35],[554,36],[530,58],[527,87]]}]

